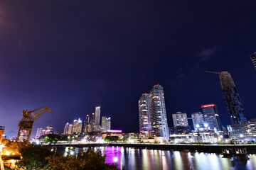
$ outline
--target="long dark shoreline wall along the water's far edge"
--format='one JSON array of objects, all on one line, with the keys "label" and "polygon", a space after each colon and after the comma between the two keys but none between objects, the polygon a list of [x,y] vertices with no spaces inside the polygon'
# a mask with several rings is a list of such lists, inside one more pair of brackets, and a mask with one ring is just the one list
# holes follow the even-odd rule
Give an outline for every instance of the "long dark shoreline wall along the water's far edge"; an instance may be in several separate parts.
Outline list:
[{"label": "long dark shoreline wall along the water's far edge", "polygon": [[158,145],[158,144],[127,144],[127,143],[90,143],[48,145],[49,147],[132,147],[139,149],[159,149],[189,152],[222,153],[222,149],[246,149],[248,154],[256,154],[256,145]]}]

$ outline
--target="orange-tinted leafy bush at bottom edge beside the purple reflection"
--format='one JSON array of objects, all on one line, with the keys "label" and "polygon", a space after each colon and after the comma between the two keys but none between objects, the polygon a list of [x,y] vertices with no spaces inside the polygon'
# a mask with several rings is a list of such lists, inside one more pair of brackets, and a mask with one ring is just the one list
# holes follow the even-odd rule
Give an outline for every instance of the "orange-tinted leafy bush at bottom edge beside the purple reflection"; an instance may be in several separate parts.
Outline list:
[{"label": "orange-tinted leafy bush at bottom edge beside the purple reflection", "polygon": [[[86,151],[80,150],[76,156],[68,154],[67,157],[63,155],[51,155],[47,157],[50,166],[49,170],[117,170],[117,164],[105,163],[106,156],[102,156],[100,151],[93,152],[92,149],[88,148]],[[124,168],[123,168],[124,169]]]}]

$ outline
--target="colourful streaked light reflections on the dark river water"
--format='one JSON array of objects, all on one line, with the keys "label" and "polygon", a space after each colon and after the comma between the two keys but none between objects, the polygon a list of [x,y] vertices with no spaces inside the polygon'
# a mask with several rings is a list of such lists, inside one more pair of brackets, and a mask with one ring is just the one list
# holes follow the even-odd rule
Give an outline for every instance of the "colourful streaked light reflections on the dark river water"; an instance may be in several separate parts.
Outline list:
[{"label": "colourful streaked light reflections on the dark river water", "polygon": [[[203,152],[178,152],[156,149],[134,149],[124,147],[95,147],[100,149],[102,154],[106,154],[106,162],[112,163],[115,154],[117,154],[117,164],[120,168],[122,157],[122,166],[127,169],[178,169],[178,170],[222,170],[222,169],[256,169],[256,154],[250,154],[250,160],[238,159],[231,162],[230,158],[223,158],[221,154],[210,154]],[[80,148],[72,149],[74,154],[78,153]],[[65,148],[65,153],[68,147]],[[64,151],[63,151],[64,152]]]}]

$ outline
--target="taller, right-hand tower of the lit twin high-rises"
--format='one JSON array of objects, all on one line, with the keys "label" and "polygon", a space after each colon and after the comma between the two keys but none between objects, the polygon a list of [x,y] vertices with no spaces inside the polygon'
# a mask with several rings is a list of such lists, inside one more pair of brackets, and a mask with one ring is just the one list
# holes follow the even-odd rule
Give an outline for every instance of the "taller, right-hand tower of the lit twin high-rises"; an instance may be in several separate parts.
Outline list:
[{"label": "taller, right-hand tower of the lit twin high-rises", "polygon": [[169,130],[166,118],[164,89],[159,84],[154,85],[149,93],[149,113],[152,137],[159,140],[168,140]]}]

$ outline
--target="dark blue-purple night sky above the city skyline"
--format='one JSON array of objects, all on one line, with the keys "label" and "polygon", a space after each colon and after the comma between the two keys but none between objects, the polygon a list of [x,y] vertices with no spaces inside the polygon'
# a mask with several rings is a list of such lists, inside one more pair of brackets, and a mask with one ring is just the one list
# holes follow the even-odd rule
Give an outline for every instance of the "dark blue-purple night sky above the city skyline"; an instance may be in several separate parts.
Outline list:
[{"label": "dark blue-purple night sky above the city skyline", "polygon": [[101,106],[112,129],[139,132],[138,99],[164,87],[176,111],[215,103],[230,116],[218,74],[230,72],[256,118],[256,1],[0,1],[0,125],[18,133],[23,109],[48,106],[33,126],[63,132]]}]

